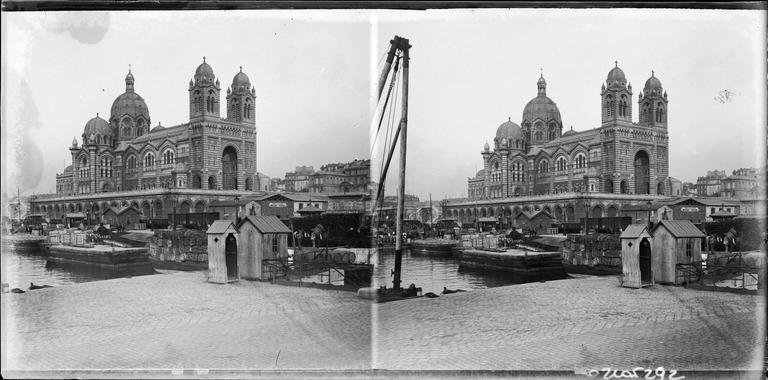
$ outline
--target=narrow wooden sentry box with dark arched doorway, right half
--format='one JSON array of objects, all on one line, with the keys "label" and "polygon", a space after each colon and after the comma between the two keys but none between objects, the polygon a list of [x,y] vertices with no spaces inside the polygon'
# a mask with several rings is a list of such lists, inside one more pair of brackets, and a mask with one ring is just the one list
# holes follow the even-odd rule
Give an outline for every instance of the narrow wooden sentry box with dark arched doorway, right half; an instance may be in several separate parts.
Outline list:
[{"label": "narrow wooden sentry box with dark arched doorway, right half", "polygon": [[652,244],[653,236],[646,224],[630,224],[621,233],[621,265],[624,279],[622,286],[641,288],[653,285]]}]

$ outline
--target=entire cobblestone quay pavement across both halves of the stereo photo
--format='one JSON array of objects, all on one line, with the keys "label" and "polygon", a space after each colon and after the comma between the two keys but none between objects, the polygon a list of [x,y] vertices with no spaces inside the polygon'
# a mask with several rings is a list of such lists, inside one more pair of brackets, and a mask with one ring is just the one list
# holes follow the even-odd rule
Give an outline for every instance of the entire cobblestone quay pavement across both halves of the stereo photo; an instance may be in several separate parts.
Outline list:
[{"label": "entire cobblestone quay pavement across both halves of the stereo photo", "polygon": [[350,292],[214,285],[204,272],[170,272],[3,294],[2,363],[4,371],[758,369],[764,306],[757,296],[586,277],[371,307]]}]

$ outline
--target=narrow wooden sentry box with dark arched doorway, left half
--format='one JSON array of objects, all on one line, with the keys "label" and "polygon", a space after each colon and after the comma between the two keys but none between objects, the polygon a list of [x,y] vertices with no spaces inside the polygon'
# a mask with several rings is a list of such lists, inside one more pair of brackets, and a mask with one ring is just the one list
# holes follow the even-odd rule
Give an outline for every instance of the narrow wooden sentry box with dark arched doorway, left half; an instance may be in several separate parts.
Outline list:
[{"label": "narrow wooden sentry box with dark arched doorway, left half", "polygon": [[208,282],[226,284],[240,278],[237,227],[230,220],[216,220],[208,235]]}]

